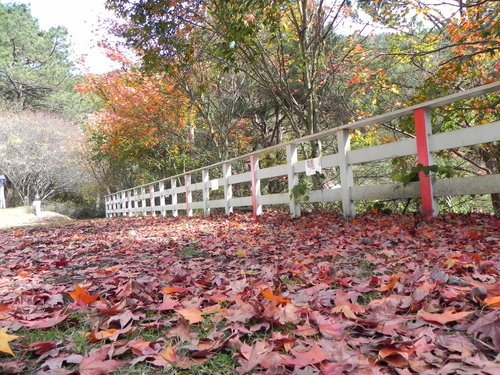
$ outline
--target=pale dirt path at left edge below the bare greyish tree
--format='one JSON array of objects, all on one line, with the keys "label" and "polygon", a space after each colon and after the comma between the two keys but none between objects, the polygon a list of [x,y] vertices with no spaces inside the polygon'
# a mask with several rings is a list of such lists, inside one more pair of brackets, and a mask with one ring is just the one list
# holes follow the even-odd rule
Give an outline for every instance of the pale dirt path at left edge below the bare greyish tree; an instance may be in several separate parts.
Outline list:
[{"label": "pale dirt path at left edge below the bare greyish tree", "polygon": [[70,222],[67,216],[56,212],[42,211],[41,217],[36,217],[31,207],[16,207],[0,210],[0,230],[31,225],[63,224]]}]

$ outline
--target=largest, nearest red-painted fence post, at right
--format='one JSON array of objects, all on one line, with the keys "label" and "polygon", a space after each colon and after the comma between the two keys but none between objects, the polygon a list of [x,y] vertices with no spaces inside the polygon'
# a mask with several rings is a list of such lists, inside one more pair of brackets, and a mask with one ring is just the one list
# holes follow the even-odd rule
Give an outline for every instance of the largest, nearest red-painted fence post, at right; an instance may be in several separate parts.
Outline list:
[{"label": "largest, nearest red-painted fence post, at right", "polygon": [[[424,167],[433,164],[429,152],[429,135],[432,134],[431,115],[428,108],[417,108],[413,111],[415,118],[415,136],[417,141],[418,163]],[[436,216],[439,212],[437,200],[434,198],[432,176],[419,172],[420,198],[422,200],[422,214],[425,219]]]}]

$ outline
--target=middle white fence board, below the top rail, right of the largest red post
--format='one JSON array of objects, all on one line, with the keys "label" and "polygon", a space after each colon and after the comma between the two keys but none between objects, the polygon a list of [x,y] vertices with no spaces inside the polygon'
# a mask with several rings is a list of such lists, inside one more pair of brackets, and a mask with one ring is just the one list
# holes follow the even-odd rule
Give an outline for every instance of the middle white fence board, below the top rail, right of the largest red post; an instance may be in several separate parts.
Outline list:
[{"label": "middle white fence board, below the top rail, right of the largest red post", "polygon": [[450,148],[473,146],[498,139],[500,139],[500,121],[433,134],[429,137],[429,150],[434,152]]}]

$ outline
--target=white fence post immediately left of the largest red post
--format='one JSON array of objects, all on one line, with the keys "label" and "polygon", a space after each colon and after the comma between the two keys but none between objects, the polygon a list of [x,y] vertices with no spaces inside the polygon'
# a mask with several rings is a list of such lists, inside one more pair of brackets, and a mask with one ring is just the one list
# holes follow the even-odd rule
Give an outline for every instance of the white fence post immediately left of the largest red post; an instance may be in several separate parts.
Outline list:
[{"label": "white fence post immediately left of the largest red post", "polygon": [[347,154],[351,151],[351,139],[349,129],[337,132],[337,143],[340,156],[340,192],[342,195],[342,212],[344,217],[350,218],[356,215],[356,208],[351,197],[351,188],[354,186],[352,165],[349,164]]}]

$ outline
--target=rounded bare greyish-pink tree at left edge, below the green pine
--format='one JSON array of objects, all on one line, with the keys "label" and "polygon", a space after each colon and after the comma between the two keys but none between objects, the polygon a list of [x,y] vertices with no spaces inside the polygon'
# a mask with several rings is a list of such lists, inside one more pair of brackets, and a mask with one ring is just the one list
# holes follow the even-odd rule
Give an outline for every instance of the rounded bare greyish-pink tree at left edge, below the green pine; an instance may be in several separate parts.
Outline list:
[{"label": "rounded bare greyish-pink tree at left edge, below the green pine", "polygon": [[75,191],[84,179],[75,144],[79,129],[42,112],[0,114],[0,174],[7,177],[13,203],[29,205]]}]

